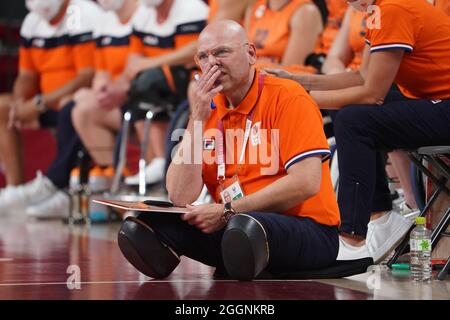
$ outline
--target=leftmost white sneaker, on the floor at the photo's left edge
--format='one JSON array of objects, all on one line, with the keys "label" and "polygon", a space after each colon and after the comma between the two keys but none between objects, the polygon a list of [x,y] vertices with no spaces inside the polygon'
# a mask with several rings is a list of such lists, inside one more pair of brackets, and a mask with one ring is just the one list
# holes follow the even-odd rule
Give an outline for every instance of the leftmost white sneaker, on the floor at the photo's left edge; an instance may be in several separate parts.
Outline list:
[{"label": "leftmost white sneaker, on the floor at the photo's left edge", "polygon": [[40,171],[36,178],[20,186],[9,186],[0,193],[0,214],[14,210],[24,210],[50,198],[56,192],[53,183]]}]

